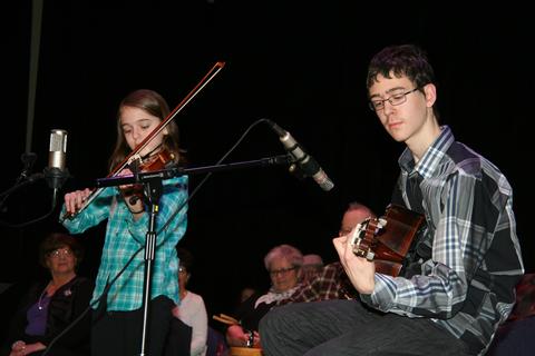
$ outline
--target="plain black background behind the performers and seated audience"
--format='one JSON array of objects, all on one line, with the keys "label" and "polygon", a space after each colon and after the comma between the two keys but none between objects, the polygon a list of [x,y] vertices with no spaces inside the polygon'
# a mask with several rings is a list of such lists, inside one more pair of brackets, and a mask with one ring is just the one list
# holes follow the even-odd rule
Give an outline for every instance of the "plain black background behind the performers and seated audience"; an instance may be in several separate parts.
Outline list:
[{"label": "plain black background behind the performers and seated audience", "polygon": [[[48,161],[51,129],[68,131],[62,194],[94,186],[107,175],[115,142],[115,111],[129,91],[149,88],[173,108],[216,61],[226,66],[177,116],[191,167],[215,164],[251,123],[270,118],[314,156],[334,181],[322,191],[285,167],[217,172],[189,204],[181,246],[196,257],[191,289],[208,314],[230,313],[239,290],[269,286],[263,257],[289,243],[335,259],[331,237],[350,200],[377,212],[389,202],[403,146],[393,142],[367,107],[366,70],[388,44],[415,42],[429,53],[444,123],[456,138],[496,164],[515,191],[517,233],[528,271],[533,192],[533,21],[527,6],[474,9],[461,4],[397,1],[45,1],[33,127],[27,123],[31,1],[2,6],[2,139],[0,189],[19,176],[20,155]],[[27,130],[32,140],[27,142]],[[268,126],[254,127],[227,162],[283,154]],[[204,176],[191,177],[191,190]],[[50,189],[39,181],[11,194],[0,220],[0,283],[11,297],[46,276],[37,246],[64,230],[59,211],[46,215]],[[58,208],[56,208],[57,210]],[[82,234],[80,274],[94,277],[104,224]],[[1,318],[4,319],[4,318]]]}]

